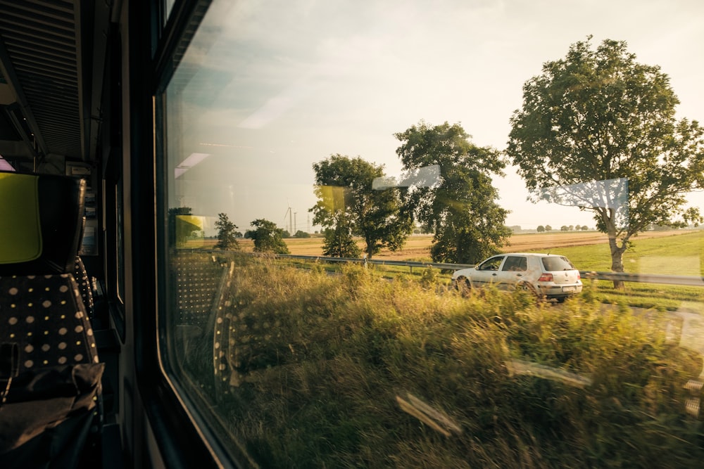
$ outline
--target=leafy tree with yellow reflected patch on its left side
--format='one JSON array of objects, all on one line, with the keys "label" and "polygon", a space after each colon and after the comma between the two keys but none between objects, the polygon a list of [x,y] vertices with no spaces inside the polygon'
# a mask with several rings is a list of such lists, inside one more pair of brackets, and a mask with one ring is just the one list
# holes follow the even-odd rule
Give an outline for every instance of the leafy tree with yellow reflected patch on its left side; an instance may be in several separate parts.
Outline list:
[{"label": "leafy tree with yellow reflected patch on its left side", "polygon": [[382,248],[403,247],[413,228],[412,217],[404,210],[399,188],[375,184],[384,177],[382,166],[337,154],[315,163],[313,170],[318,203],[310,212],[313,224],[332,230],[325,232],[326,243],[331,236],[330,245],[349,246],[350,234],[361,236],[370,259]]}]

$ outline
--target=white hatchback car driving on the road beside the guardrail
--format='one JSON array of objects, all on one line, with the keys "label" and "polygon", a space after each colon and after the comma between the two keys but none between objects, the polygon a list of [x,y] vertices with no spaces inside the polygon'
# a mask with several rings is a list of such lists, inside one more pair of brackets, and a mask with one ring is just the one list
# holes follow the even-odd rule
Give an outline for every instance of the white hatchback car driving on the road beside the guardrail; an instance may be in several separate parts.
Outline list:
[{"label": "white hatchback car driving on the road beside the guardrail", "polygon": [[452,284],[458,290],[490,284],[501,290],[523,288],[558,302],[582,292],[579,271],[567,257],[523,252],[492,256],[474,267],[455,271]]}]

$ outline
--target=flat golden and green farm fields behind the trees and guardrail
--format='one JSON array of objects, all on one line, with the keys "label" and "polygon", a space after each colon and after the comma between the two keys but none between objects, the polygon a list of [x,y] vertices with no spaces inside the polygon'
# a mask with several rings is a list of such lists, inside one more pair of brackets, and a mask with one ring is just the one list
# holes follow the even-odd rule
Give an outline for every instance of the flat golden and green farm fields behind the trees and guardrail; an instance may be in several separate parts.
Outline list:
[{"label": "flat golden and green farm fields behind the trees and guardrail", "polygon": [[[322,256],[323,239],[287,238],[284,240],[292,255]],[[215,243],[206,240],[206,243]],[[403,250],[389,252],[382,250],[374,259],[395,261],[429,262],[429,247],[432,236],[410,236]],[[673,230],[648,231],[631,238],[632,245],[623,257],[625,271],[631,274],[664,274],[679,276],[704,276],[704,231]],[[245,252],[251,252],[251,240],[240,239]],[[363,242],[358,240],[360,248]],[[196,247],[196,246],[193,246]],[[207,247],[207,245],[206,245]],[[596,231],[525,233],[514,235],[504,252],[553,252],[567,256],[581,271],[610,271],[611,257],[608,238]],[[411,274],[421,276],[419,269],[401,266],[377,267],[389,278]],[[447,274],[439,275],[439,280],[448,283]],[[700,311],[701,286],[660,285],[648,283],[627,283],[623,290],[614,290],[612,282],[591,283],[590,293],[601,302],[628,304],[630,307],[677,311],[682,304],[696,304]]]}]

